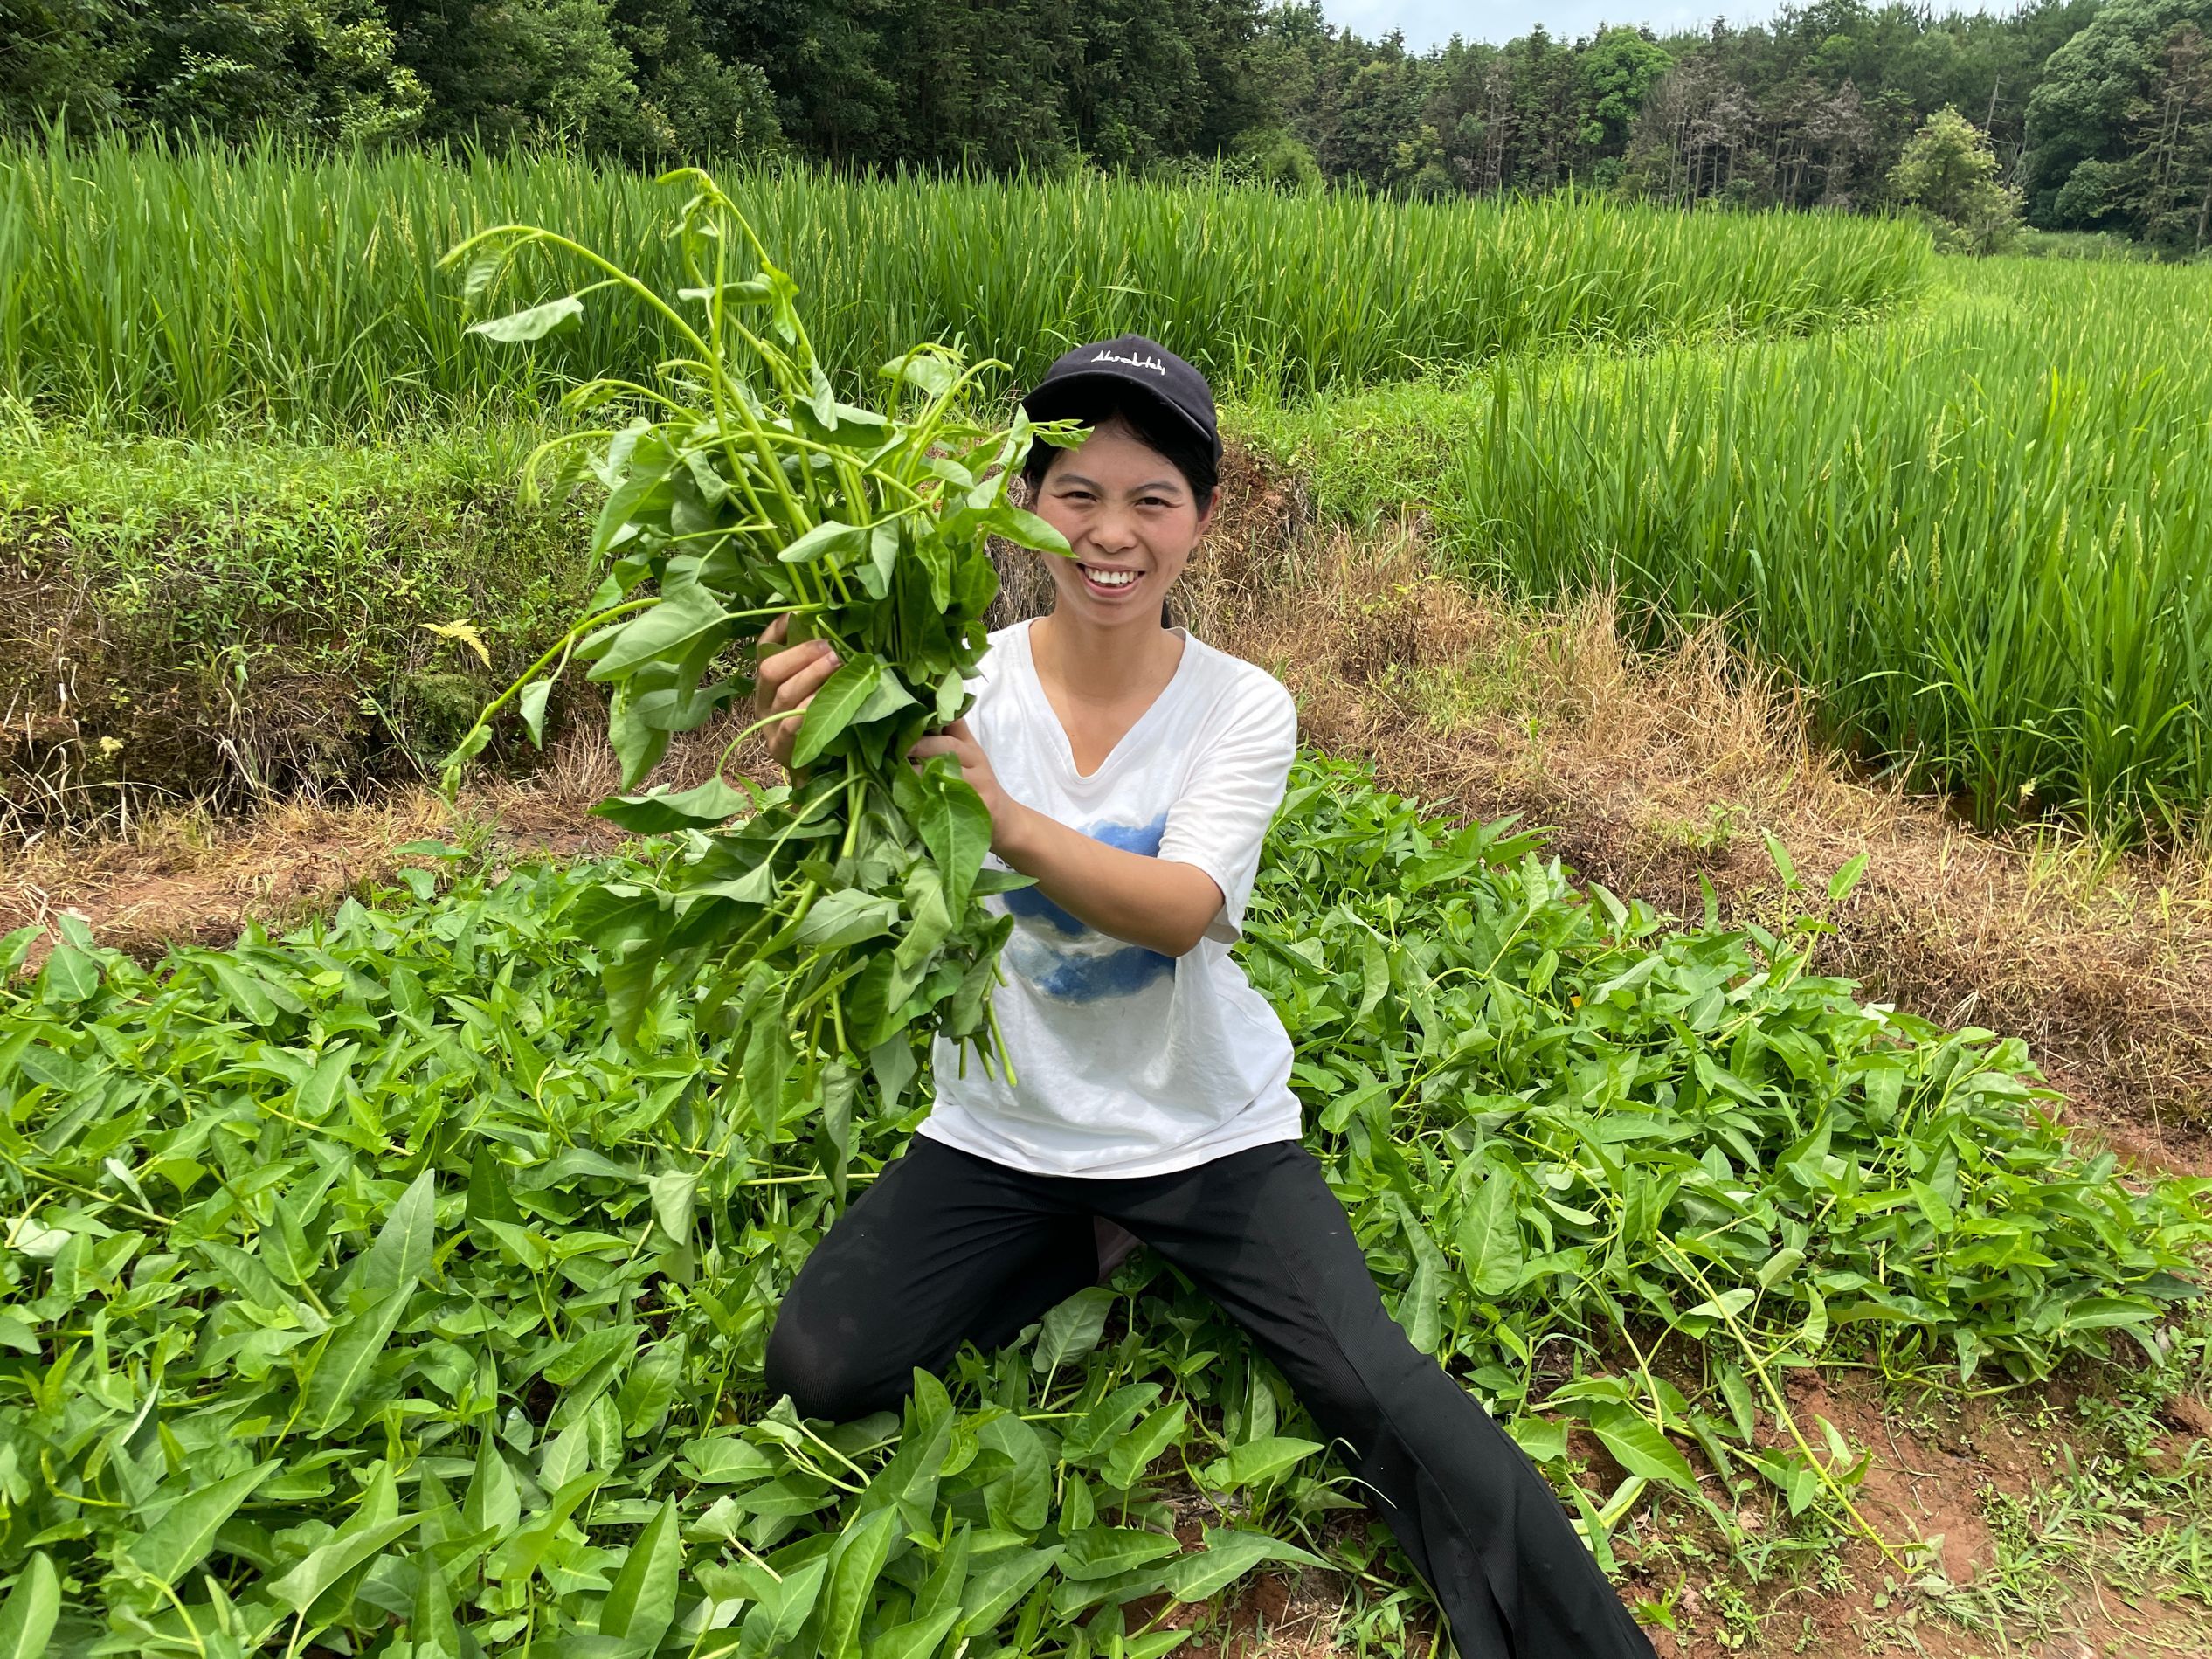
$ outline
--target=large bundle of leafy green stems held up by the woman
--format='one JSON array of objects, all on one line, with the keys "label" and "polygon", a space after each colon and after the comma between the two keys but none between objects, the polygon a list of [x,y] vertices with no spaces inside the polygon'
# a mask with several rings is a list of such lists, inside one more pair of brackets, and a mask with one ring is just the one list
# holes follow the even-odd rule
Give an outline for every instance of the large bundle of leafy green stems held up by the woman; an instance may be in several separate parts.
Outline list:
[{"label": "large bundle of leafy green stems held up by the woman", "polygon": [[[670,834],[650,883],[595,887],[577,925],[602,958],[615,1026],[635,1037],[679,989],[692,1018],[743,1031],[726,1088],[768,1135],[816,1124],[823,1168],[843,1188],[854,1095],[872,1077],[885,1104],[909,1088],[916,1033],[973,1042],[1004,1064],[991,1018],[998,949],[1011,918],[982,898],[1026,878],[984,869],[991,816],[951,759],[916,768],[907,750],[967,706],[998,593],[987,538],[1066,553],[1042,518],[1006,498],[1029,445],[1073,442],[1060,427],[980,425],[964,414],[995,363],[920,345],[887,363],[889,411],[843,403],[814,358],[796,283],[739,208],[699,170],[672,234],[690,285],[672,301],[615,261],[538,226],[495,226],[445,263],[482,301],[533,250],[580,261],[597,281],[476,323],[529,343],[606,296],[641,303],[686,356],[657,385],[599,378],[568,411],[648,407],[622,427],[571,431],[529,460],[526,489],[606,489],[593,551],[611,568],[588,615],[533,664],[447,761],[484,748],[509,701],[533,741],[571,661],[608,688],[608,737],[624,787],[677,732],[750,699],[743,668],[774,617],[790,641],[827,639],[838,670],[799,728],[796,781],[759,787],[723,770],[684,792],[619,794],[595,812]],[[752,270],[732,270],[750,254]],[[743,661],[732,666],[732,659]]]}]

